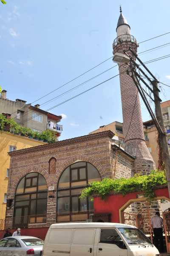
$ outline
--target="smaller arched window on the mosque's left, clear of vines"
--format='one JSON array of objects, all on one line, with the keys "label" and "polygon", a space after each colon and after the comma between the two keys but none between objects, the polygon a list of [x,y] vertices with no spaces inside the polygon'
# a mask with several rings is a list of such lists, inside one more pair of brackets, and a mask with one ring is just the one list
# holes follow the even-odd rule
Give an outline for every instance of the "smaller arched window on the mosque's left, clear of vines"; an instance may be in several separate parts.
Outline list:
[{"label": "smaller arched window on the mosque's left, clear of vines", "polygon": [[[14,202],[14,226],[44,222],[47,209],[47,184],[36,172],[24,176],[17,185]],[[29,217],[28,217],[29,216]]]}]

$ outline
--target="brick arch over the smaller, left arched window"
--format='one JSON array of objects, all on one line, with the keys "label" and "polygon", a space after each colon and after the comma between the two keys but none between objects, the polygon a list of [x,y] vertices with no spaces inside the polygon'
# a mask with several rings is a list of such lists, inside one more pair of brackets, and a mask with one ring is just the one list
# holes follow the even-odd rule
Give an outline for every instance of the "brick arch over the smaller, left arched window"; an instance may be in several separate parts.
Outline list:
[{"label": "brick arch over the smaller, left arched window", "polygon": [[22,171],[20,174],[17,175],[17,178],[14,180],[14,182],[11,185],[11,191],[10,191],[11,196],[12,195],[14,196],[15,190],[16,190],[17,185],[20,182],[20,180],[24,176],[26,176],[26,174],[28,174],[30,172],[37,172],[37,173],[41,174],[44,177],[45,181],[47,182],[47,187],[51,186],[50,177],[49,177],[48,173],[46,171],[44,171],[43,168],[40,168],[40,167],[37,167],[37,166],[30,166],[30,167],[26,168],[24,171]]}]

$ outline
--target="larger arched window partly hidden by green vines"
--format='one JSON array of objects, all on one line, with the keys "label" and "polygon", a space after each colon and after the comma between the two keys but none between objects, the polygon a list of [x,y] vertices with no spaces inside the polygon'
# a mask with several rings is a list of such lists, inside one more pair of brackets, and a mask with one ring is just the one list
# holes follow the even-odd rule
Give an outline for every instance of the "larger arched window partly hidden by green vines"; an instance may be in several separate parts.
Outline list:
[{"label": "larger arched window partly hidden by green vines", "polygon": [[88,162],[76,162],[63,171],[57,189],[57,221],[74,221],[59,216],[67,212],[88,211],[93,202],[88,198],[79,198],[81,191],[89,182],[101,181],[97,169]]}]

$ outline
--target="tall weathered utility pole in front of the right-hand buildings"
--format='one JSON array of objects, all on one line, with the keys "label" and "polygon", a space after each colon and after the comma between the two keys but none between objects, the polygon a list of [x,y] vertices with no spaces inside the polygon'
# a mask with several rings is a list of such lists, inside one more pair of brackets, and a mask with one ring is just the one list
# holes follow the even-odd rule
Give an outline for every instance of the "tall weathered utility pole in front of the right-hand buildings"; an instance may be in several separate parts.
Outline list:
[{"label": "tall weathered utility pole in front of the right-hand buildings", "polygon": [[159,125],[161,126],[161,129],[163,133],[159,132],[159,138],[161,145],[159,145],[159,148],[161,148],[162,153],[163,153],[163,159],[164,159],[164,167],[165,167],[165,173],[167,177],[167,186],[168,186],[168,191],[170,195],[170,154],[169,154],[169,149],[168,149],[168,144],[167,144],[167,135],[165,132],[164,128],[164,121],[162,117],[162,111],[161,111],[161,103],[159,100],[159,91],[158,89],[158,82],[157,80],[152,81],[153,84],[153,96],[154,96],[154,102],[155,102],[155,113],[156,113],[156,118],[159,122]]}]

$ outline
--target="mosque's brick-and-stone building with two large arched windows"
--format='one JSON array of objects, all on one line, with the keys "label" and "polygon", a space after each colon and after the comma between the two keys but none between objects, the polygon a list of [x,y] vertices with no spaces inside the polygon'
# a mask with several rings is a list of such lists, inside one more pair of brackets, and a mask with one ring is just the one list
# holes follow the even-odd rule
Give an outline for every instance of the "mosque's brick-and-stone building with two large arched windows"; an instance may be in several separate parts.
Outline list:
[{"label": "mosque's brick-and-stone building with two large arched windows", "polygon": [[6,227],[91,219],[93,203],[79,198],[82,188],[95,180],[132,175],[134,157],[112,137],[104,131],[10,152]]}]

